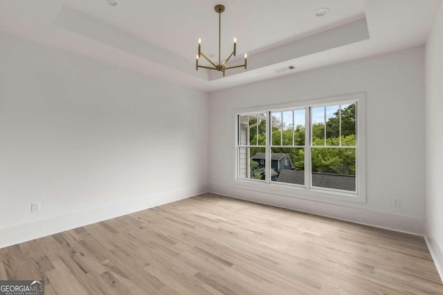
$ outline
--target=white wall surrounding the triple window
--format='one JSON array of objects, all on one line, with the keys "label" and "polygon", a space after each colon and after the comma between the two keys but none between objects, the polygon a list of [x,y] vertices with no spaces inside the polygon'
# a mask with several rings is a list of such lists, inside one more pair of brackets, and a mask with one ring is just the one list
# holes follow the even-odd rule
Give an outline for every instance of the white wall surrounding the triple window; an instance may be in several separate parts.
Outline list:
[{"label": "white wall surrounding the triple window", "polygon": [[[366,204],[326,204],[233,184],[233,110],[351,93],[366,95]],[[424,47],[212,93],[209,142],[210,191],[423,234]],[[392,198],[401,207],[392,207]]]}]

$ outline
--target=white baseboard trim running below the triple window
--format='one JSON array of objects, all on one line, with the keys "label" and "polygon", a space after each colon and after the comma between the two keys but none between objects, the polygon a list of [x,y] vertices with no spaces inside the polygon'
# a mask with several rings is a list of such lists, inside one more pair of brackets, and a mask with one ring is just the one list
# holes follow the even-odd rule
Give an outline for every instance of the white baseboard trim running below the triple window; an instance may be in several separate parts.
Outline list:
[{"label": "white baseboard trim running below the triple window", "polygon": [[230,187],[224,184],[210,183],[209,191],[210,193],[217,193],[222,196],[350,221],[361,225],[370,225],[372,227],[400,231],[406,234],[424,235],[424,219],[345,207],[338,204],[278,196],[270,193],[239,189],[238,187]]}]

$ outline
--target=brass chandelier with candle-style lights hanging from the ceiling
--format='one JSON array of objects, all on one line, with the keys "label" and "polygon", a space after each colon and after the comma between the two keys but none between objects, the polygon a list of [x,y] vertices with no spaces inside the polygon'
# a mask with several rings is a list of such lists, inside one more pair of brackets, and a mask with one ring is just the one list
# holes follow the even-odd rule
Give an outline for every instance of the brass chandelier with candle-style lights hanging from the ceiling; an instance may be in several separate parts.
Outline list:
[{"label": "brass chandelier with candle-style lights hanging from the ceiling", "polygon": [[[201,52],[201,39],[199,39],[199,54],[197,55],[197,60],[195,61],[195,70],[199,70],[199,68],[208,68],[210,70],[220,70],[223,72],[223,76],[225,73],[225,70],[229,70],[230,68],[242,68],[244,67],[246,69],[247,64],[247,57],[248,55],[244,54],[244,64],[241,64],[239,66],[226,66],[228,64],[228,61],[231,57],[235,56],[236,48],[237,48],[237,38],[234,38],[234,50],[229,55],[227,59],[225,59],[223,62],[221,62],[220,57],[220,48],[221,48],[221,12],[224,12],[224,6],[221,4],[215,6],[215,12],[219,14],[219,63],[215,64],[213,61],[211,61],[204,53]],[[199,65],[199,57],[204,57],[212,66],[200,66]]]}]

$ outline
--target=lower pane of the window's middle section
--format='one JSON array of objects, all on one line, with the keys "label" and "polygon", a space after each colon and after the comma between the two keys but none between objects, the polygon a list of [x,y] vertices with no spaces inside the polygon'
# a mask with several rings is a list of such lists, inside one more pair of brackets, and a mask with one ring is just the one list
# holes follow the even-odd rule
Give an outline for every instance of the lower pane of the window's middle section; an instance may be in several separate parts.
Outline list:
[{"label": "lower pane of the window's middle section", "polygon": [[271,149],[271,181],[305,184],[305,149]]}]

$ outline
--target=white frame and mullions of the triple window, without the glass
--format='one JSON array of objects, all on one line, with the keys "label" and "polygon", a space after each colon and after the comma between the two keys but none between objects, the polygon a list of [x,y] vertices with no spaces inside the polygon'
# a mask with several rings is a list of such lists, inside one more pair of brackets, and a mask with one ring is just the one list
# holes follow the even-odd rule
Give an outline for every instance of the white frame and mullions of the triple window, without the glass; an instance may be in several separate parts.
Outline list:
[{"label": "white frame and mullions of the triple window, without the glass", "polygon": [[[356,102],[356,192],[347,192],[338,189],[311,187],[311,108],[316,106],[325,106],[332,104],[348,104]],[[265,148],[265,169],[266,175],[271,175],[271,142],[269,130],[271,127],[270,113],[273,111],[286,111],[295,108],[305,108],[305,185],[289,184],[284,182],[271,182],[271,176],[266,180],[253,180],[248,178],[239,178],[239,115],[252,115],[256,113],[266,113],[266,148]],[[248,189],[262,193],[270,193],[278,196],[287,196],[292,198],[301,198],[307,200],[317,200],[320,202],[329,202],[341,204],[341,201],[366,202],[366,164],[365,164],[365,93],[352,95],[341,95],[336,97],[327,97],[321,99],[309,99],[289,104],[276,104],[269,106],[257,106],[255,108],[236,109],[233,112],[235,120],[235,173],[233,183],[240,189]],[[251,146],[252,147],[252,146]]]}]

